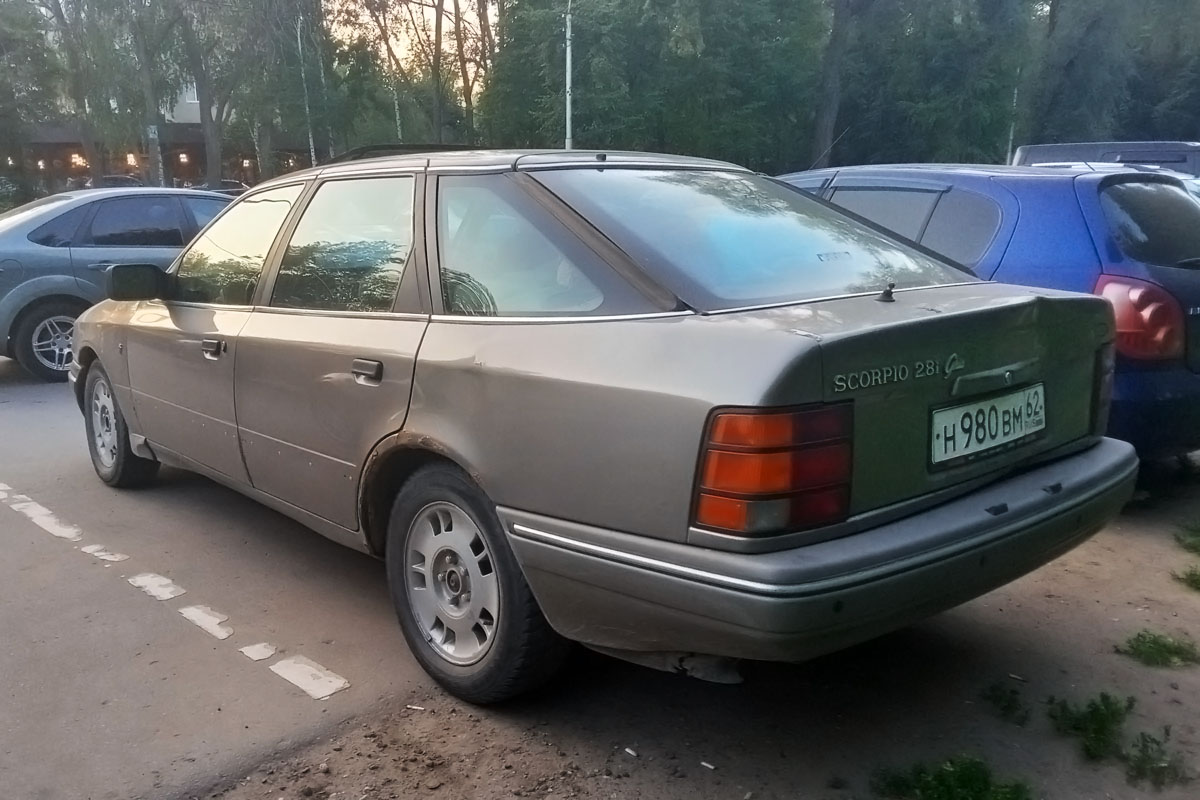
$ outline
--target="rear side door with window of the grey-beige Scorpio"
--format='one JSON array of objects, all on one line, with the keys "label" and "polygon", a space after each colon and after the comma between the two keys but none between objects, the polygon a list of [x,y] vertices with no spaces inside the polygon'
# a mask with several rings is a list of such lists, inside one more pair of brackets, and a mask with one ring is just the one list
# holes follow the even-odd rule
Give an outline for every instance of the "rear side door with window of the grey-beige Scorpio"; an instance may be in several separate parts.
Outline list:
[{"label": "rear side door with window of the grey-beige Scorpio", "polygon": [[238,428],[254,487],[343,528],[376,443],[404,425],[428,325],[415,174],[318,185],[238,341]]}]

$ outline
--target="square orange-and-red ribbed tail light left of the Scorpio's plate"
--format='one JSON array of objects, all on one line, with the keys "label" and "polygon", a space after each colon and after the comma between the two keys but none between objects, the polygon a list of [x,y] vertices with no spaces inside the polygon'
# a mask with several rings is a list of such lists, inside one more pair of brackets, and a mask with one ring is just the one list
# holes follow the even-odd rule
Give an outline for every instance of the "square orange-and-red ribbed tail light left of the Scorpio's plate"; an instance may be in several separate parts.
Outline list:
[{"label": "square orange-and-red ribbed tail light left of the Scorpio's plate", "polygon": [[709,421],[695,524],[768,536],[850,515],[854,407],[731,410]]}]

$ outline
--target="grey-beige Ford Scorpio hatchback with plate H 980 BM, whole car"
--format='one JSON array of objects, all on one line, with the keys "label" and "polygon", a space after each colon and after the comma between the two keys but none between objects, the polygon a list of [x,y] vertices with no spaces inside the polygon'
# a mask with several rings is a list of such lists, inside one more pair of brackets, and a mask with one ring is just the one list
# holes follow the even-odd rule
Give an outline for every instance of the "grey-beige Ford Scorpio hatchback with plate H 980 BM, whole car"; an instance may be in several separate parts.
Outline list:
[{"label": "grey-beige Ford Scorpio hatchback with plate H 980 BM, whole car", "polygon": [[256,187],[79,318],[97,475],[208,475],[385,559],[493,702],[568,642],[708,674],[907,625],[1128,499],[1114,321],[732,164],[451,152]]}]

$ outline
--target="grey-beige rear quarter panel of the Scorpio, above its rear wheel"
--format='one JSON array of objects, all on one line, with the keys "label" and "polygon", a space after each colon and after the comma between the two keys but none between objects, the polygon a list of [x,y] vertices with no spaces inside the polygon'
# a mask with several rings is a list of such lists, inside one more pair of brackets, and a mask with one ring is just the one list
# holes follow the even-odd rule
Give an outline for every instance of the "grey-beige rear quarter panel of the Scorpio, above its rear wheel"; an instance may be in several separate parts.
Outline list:
[{"label": "grey-beige rear quarter panel of the Scorpio, above its rear wheel", "polygon": [[816,342],[740,314],[434,320],[406,429],[498,505],[684,541],[713,407],[805,392],[821,398]]}]

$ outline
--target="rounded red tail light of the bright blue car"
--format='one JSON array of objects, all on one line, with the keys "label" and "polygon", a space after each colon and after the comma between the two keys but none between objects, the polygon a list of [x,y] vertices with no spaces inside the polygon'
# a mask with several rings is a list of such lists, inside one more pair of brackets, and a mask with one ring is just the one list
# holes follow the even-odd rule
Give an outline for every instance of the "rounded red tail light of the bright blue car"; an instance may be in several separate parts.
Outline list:
[{"label": "rounded red tail light of the bright blue car", "polygon": [[1117,353],[1153,361],[1183,356],[1183,309],[1166,289],[1147,281],[1104,275],[1096,284],[1096,294],[1112,303]]}]

